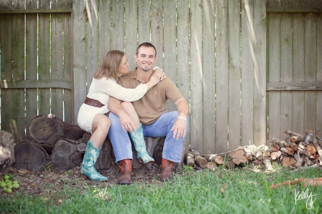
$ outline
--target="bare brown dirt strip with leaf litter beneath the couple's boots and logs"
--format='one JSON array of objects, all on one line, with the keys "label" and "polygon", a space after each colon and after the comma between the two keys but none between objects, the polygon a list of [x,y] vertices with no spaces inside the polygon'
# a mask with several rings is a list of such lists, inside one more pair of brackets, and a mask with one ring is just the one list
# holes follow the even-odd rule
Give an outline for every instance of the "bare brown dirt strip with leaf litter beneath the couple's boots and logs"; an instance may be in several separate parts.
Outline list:
[{"label": "bare brown dirt strip with leaf litter beneath the couple's boots and logs", "polygon": [[[152,165],[149,169],[144,166],[141,169],[132,168],[132,183],[149,183],[152,180],[160,183],[158,178],[160,176],[161,168],[158,165]],[[62,190],[62,186],[66,188],[72,187],[86,187],[91,185],[119,185],[117,184],[119,167],[118,165],[112,166],[109,170],[98,170],[98,172],[109,178],[106,182],[93,182],[81,178],[80,166],[67,171],[60,170],[43,170],[39,172],[32,172],[27,170],[17,170],[11,167],[6,168],[0,172],[0,178],[7,173],[13,175],[13,179],[17,180],[20,184],[18,189],[13,189],[10,194],[15,194],[22,191],[22,194],[32,195],[47,195],[49,192],[55,193]],[[2,193],[1,193],[2,194]]]}]

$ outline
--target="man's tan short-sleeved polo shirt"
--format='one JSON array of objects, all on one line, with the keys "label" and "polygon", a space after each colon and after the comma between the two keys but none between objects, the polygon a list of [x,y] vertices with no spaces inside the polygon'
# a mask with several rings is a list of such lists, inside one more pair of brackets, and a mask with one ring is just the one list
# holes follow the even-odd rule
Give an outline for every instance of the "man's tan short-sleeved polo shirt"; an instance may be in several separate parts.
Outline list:
[{"label": "man's tan short-sleeved polo shirt", "polygon": [[[141,82],[137,79],[135,70],[120,76],[117,83],[125,88],[136,88]],[[175,103],[180,98],[184,97],[178,87],[169,77],[166,77],[166,79],[160,81],[148,90],[141,99],[132,103],[141,123],[143,125],[149,125],[155,122],[161,114],[167,112],[167,99]]]}]

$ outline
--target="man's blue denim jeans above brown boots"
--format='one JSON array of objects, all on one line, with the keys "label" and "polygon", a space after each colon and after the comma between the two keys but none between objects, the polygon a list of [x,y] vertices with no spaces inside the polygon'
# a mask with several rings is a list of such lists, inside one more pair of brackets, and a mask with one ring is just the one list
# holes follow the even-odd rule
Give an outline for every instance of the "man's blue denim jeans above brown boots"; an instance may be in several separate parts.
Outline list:
[{"label": "man's blue denim jeans above brown boots", "polygon": [[[181,137],[179,140],[173,138],[173,131],[170,131],[173,124],[179,116],[178,111],[170,111],[163,113],[158,120],[150,125],[142,125],[144,137],[161,138],[165,137],[162,157],[179,163],[181,161],[183,140]],[[123,159],[133,159],[132,157],[132,145],[128,136],[128,132],[124,132],[119,118],[112,112],[109,114],[111,120],[111,127],[109,129],[109,139],[111,140],[115,162],[118,163]],[[186,131],[188,130],[188,117],[186,123]]]}]

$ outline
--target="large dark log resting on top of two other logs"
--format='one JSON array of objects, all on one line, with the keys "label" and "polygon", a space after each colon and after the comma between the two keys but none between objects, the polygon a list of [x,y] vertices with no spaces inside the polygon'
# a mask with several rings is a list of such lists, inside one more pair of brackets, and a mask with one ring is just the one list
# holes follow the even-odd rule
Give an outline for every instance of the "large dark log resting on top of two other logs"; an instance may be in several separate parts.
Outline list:
[{"label": "large dark log resting on top of two other logs", "polygon": [[42,146],[49,154],[60,138],[77,140],[84,131],[78,125],[63,122],[53,114],[34,117],[28,125],[28,135],[33,142]]}]

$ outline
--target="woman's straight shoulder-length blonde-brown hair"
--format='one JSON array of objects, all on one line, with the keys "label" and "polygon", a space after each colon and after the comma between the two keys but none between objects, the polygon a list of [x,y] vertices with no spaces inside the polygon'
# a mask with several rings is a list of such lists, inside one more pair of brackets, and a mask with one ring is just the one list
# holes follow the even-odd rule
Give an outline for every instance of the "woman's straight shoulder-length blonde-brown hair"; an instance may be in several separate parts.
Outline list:
[{"label": "woman's straight shoulder-length blonde-brown hair", "polygon": [[95,79],[101,79],[103,76],[113,78],[115,81],[118,79],[117,70],[121,64],[124,52],[120,50],[109,50],[99,64],[99,68],[94,73]]}]

